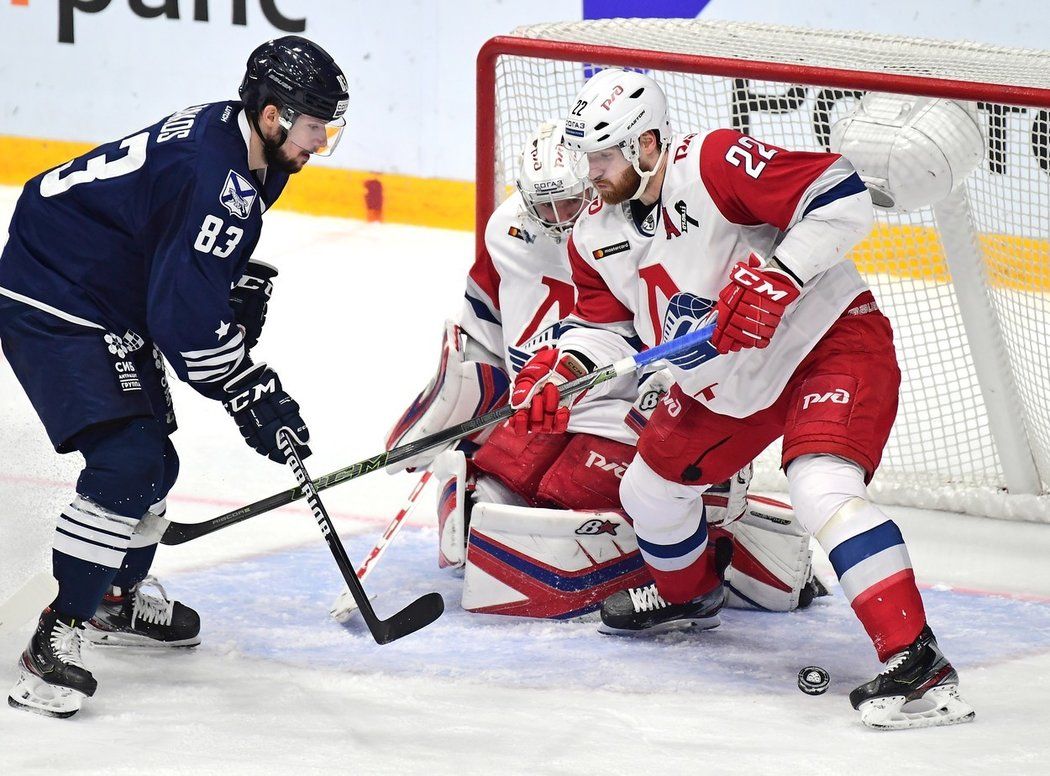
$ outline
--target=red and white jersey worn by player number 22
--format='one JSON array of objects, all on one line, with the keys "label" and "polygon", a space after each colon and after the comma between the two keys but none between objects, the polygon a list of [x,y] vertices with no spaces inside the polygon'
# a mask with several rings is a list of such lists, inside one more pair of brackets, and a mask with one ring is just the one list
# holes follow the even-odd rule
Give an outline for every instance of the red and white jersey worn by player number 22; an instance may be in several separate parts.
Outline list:
[{"label": "red and white jersey worn by player number 22", "polygon": [[666,164],[660,201],[640,224],[631,203],[601,201],[576,222],[569,320],[584,327],[566,332],[562,348],[604,363],[632,352],[623,338],[658,344],[714,312],[737,261],[776,254],[804,285],[770,345],[691,369],[672,364],[682,391],[714,412],[746,417],[773,403],[867,289],[844,258],[870,231],[872,201],[839,154],[789,151],[731,129],[675,135]]}]

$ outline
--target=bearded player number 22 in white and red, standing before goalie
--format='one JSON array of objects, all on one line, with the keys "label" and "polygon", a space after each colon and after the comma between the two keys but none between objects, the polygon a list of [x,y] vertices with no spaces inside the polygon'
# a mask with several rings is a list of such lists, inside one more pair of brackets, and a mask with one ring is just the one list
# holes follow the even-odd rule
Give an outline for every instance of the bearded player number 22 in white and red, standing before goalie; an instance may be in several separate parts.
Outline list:
[{"label": "bearded player number 22 in white and red, standing before goalie", "polygon": [[[845,258],[873,221],[853,166],[729,129],[674,134],[656,82],[616,69],[584,86],[565,135],[601,195],[568,246],[569,320],[581,326],[522,369],[518,422],[551,426],[568,412],[556,385],[623,357],[629,340],[651,347],[717,321],[710,343],[673,359],[676,384],[624,476],[655,584],[608,599],[604,632],[717,625],[723,587],[705,552],[702,494],[782,436],[797,517],[887,663],[850,694],[854,707],[878,727],[971,719],[901,532],[867,496],[900,370],[889,322]],[[908,705],[918,698],[921,713]]]}]

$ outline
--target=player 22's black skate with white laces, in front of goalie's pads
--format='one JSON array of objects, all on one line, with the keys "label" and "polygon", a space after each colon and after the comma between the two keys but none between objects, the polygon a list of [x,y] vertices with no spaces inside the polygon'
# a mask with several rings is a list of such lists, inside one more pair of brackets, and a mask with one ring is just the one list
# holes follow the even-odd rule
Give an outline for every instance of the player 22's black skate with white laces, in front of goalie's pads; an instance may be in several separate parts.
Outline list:
[{"label": "player 22's black skate with white laces, in front of goalie's pads", "polygon": [[732,540],[718,539],[715,542],[718,585],[687,604],[668,603],[656,590],[655,583],[613,593],[602,602],[598,631],[610,635],[652,635],[684,628],[717,628],[721,624],[718,612],[726,604],[722,580],[732,558]]}]

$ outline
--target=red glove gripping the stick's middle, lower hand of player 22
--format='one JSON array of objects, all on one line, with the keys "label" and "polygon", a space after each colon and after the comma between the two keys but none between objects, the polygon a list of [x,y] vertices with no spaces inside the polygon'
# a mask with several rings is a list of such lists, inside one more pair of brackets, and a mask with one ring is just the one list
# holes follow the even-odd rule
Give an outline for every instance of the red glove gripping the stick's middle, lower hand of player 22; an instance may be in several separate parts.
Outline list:
[{"label": "red glove gripping the stick's middle, lower hand of player 22", "polygon": [[544,348],[518,373],[510,392],[510,416],[514,434],[564,434],[569,408],[559,406],[558,386],[587,374],[587,368],[570,353]]}]

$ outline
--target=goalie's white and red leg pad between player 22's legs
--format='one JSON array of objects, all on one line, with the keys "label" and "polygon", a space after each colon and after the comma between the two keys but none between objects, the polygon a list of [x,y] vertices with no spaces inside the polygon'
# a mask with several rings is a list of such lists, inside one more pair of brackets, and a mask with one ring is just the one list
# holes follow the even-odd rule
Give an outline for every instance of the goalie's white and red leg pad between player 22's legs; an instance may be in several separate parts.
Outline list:
[{"label": "goalie's white and red leg pad between player 22's legs", "polygon": [[749,499],[744,516],[728,526],[733,562],[726,570],[727,604],[738,609],[792,611],[813,574],[810,537],[789,504]]}]

